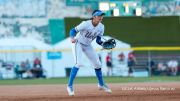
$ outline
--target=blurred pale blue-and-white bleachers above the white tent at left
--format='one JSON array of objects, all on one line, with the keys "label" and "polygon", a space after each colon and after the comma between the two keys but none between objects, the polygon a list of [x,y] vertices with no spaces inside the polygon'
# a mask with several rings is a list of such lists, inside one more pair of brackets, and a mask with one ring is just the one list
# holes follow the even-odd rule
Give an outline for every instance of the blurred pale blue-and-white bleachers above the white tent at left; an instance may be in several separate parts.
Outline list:
[{"label": "blurred pale blue-and-white bleachers above the white tent at left", "polygon": [[28,37],[50,43],[49,19],[88,16],[83,7],[66,6],[66,0],[0,1],[0,38]]}]

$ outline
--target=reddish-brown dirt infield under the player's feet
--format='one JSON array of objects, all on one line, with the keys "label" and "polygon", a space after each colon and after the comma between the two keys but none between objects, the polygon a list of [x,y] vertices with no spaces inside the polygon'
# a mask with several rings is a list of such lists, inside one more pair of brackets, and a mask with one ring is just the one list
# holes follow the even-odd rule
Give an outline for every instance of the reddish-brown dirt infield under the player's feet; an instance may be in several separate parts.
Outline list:
[{"label": "reddish-brown dirt infield under the player's feet", "polygon": [[69,97],[66,85],[0,86],[0,101],[179,101],[180,82],[109,84],[112,94],[96,84],[76,84]]}]

